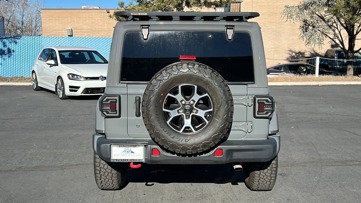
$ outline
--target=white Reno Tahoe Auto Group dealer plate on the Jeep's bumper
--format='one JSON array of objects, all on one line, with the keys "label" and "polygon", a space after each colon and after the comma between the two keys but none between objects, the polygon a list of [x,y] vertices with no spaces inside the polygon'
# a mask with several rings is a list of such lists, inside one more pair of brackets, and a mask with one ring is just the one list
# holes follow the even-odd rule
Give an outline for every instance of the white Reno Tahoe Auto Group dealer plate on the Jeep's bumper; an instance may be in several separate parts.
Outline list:
[{"label": "white Reno Tahoe Auto Group dealer plate on the Jeep's bumper", "polygon": [[114,162],[143,162],[144,145],[117,144],[110,146],[111,160]]}]

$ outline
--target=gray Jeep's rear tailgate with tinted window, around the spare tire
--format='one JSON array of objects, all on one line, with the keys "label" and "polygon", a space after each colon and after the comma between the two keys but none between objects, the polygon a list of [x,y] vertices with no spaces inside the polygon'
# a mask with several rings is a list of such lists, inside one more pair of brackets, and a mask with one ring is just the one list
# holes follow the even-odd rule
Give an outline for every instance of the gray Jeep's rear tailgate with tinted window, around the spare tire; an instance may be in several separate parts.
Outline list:
[{"label": "gray Jeep's rear tailgate with tinted window, around the spare tire", "polygon": [[222,31],[150,30],[149,35],[126,33],[123,44],[121,82],[127,83],[129,136],[149,137],[141,102],[151,78],[180,61],[180,56],[195,56],[196,62],[216,70],[229,83],[235,101],[230,138],[244,137],[251,128],[247,123],[247,84],[255,82],[251,36],[246,32],[226,33],[225,27]]}]

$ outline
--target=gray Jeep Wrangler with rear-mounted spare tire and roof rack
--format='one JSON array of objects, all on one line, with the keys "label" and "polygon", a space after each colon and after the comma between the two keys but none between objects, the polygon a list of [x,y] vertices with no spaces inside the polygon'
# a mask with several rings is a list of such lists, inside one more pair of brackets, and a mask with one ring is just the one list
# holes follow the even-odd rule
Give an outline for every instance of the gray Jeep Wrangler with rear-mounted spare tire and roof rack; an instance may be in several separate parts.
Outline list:
[{"label": "gray Jeep Wrangler with rear-mounted spare tire and roof rack", "polygon": [[273,189],[280,135],[256,12],[118,12],[97,103],[94,175],[125,187],[142,164],[228,164]]}]

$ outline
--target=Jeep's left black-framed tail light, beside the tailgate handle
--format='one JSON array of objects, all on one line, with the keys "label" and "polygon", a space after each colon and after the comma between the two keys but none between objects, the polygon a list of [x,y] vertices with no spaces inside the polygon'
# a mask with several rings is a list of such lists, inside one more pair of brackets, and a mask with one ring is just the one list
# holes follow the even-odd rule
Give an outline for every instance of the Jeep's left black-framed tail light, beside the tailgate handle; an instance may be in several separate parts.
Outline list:
[{"label": "Jeep's left black-framed tail light, beside the tailgate handle", "polygon": [[104,95],[100,99],[101,115],[106,118],[120,117],[120,96],[119,95]]}]

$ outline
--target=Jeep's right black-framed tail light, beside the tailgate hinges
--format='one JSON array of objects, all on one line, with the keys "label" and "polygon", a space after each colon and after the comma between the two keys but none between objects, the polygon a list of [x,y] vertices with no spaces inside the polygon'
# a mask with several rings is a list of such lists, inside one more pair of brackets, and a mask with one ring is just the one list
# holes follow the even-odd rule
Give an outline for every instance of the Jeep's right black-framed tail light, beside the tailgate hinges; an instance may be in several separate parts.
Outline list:
[{"label": "Jeep's right black-framed tail light, beside the tailgate hinges", "polygon": [[274,100],[271,96],[255,96],[255,118],[269,118],[273,114]]}]

